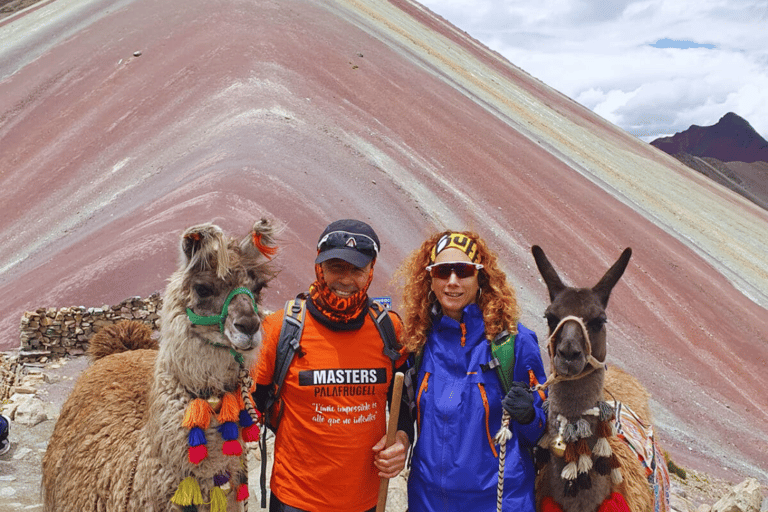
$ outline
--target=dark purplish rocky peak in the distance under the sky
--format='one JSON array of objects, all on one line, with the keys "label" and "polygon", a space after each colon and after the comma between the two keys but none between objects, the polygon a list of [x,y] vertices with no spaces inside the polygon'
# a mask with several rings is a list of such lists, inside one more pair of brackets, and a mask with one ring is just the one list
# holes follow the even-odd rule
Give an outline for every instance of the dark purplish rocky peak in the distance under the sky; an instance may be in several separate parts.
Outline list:
[{"label": "dark purplish rocky peak in the distance under the sky", "polygon": [[651,144],[670,155],[687,153],[723,162],[768,162],[768,142],[733,112],[725,114],[715,125],[693,125]]}]

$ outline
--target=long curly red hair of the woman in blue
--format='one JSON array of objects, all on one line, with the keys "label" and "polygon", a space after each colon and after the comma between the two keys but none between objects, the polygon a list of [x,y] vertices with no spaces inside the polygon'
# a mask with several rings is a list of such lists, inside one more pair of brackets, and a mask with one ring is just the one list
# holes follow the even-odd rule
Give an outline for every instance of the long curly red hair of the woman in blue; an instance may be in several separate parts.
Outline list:
[{"label": "long curly red hair of the woman in blue", "polygon": [[[432,304],[429,299],[432,278],[426,271],[429,255],[440,237],[456,231],[442,231],[429,237],[421,247],[413,251],[398,269],[397,274],[405,280],[403,301],[400,309],[403,318],[403,346],[409,352],[421,350],[427,341],[427,332],[432,327]],[[460,231],[477,243],[479,263],[483,268],[478,275],[480,297],[477,304],[483,312],[485,336],[493,340],[506,330],[517,332],[519,309],[515,291],[507,283],[507,277],[499,268],[496,253],[488,248],[485,241],[472,231]]]}]

